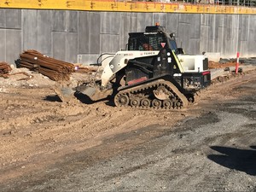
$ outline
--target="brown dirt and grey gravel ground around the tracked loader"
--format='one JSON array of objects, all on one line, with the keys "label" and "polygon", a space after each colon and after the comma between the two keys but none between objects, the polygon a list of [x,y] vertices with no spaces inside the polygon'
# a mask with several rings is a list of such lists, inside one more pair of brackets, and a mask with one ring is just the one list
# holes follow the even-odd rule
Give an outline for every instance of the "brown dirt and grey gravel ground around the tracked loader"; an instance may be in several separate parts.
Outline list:
[{"label": "brown dirt and grey gravel ground around the tracked loader", "polygon": [[[256,170],[251,174],[240,174],[234,172],[239,168],[230,166],[229,171],[223,172],[224,166],[217,164],[207,169],[209,165],[206,161],[196,158],[203,156],[206,146],[222,134],[226,139],[222,136],[223,144],[231,144],[232,139],[244,139],[242,132],[251,132],[255,136],[252,129],[256,111],[255,70],[224,83],[216,82],[201,91],[194,105],[173,111],[116,108],[107,100],[84,103],[81,99],[63,103],[53,90],[55,82],[37,73],[33,74],[33,79],[19,81],[20,78],[15,75],[10,79],[1,79],[0,191],[169,191],[189,190],[189,186],[201,191],[256,189],[253,185]],[[241,108],[250,111],[251,119],[236,114],[236,122],[232,124],[236,130],[228,127],[229,121],[221,125],[222,129],[218,126],[216,131],[205,128],[211,124],[214,129],[220,119],[230,119],[232,108],[230,112],[224,109],[216,112],[216,109],[228,108],[230,101],[241,98],[250,102],[250,110]],[[246,102],[241,103],[246,106]],[[219,114],[224,117],[220,118]],[[247,127],[241,131],[238,119],[247,122]],[[160,137],[162,140],[158,140]],[[255,141],[255,137],[246,139],[249,139],[248,143]],[[184,145],[188,148],[193,145],[193,150],[190,148],[187,153]],[[246,145],[244,143],[243,147]],[[255,145],[254,142],[252,148]],[[166,148],[172,151],[172,157],[166,156],[166,151],[163,151]],[[224,153],[227,148],[224,145],[212,146],[212,150],[219,153]],[[255,160],[255,150],[250,149],[250,152]],[[218,163],[216,155],[208,156],[208,160]],[[160,163],[156,165],[155,162]],[[156,166],[149,169],[148,165]],[[188,165],[195,166],[196,171],[190,172]],[[209,172],[215,169],[223,175],[212,176]],[[172,174],[168,175],[168,170]],[[181,170],[186,177],[181,176]],[[226,177],[226,172],[237,182],[242,176],[249,179],[245,183],[247,186],[241,184],[236,188],[236,183],[230,179],[230,185],[225,183],[221,188],[215,188],[214,183],[208,185],[208,179]],[[188,180],[189,175],[194,178]],[[140,179],[139,183],[137,179]],[[156,180],[148,183],[152,179]],[[185,180],[188,183],[183,183]],[[222,183],[216,184],[219,186]]]}]

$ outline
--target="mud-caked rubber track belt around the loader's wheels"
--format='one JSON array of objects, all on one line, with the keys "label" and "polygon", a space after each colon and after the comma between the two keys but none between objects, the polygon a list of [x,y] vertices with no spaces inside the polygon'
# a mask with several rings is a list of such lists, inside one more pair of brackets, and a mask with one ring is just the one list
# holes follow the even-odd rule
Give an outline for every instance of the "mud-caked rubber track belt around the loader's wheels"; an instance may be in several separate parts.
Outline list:
[{"label": "mud-caked rubber track belt around the loader's wheels", "polygon": [[[119,93],[117,93],[117,95],[114,96],[114,100],[116,100],[117,97],[119,97],[121,95],[126,95],[126,96],[129,97],[131,95],[137,94],[137,92],[142,92],[143,90],[145,90],[144,92],[146,92],[146,90],[152,89],[153,87],[157,88],[160,85],[164,85],[167,90],[171,91],[172,94],[177,97],[178,101],[181,102],[181,107],[180,108],[186,108],[188,106],[188,99],[186,98],[186,96],[184,96],[177,89],[177,87],[174,84],[172,84],[171,82],[166,81],[164,79],[158,79],[158,80],[155,80],[153,82],[150,82],[150,83],[147,83],[147,84],[142,84],[142,85],[139,85],[139,86],[136,86],[136,87],[132,87],[132,88],[127,89],[127,90],[120,90]],[[129,98],[129,100],[130,99],[131,98]],[[150,102],[152,102],[152,100],[150,100]],[[130,102],[129,102],[128,106],[131,107]],[[125,107],[128,107],[128,106],[125,106]],[[150,105],[150,107],[142,107],[140,105],[136,108],[154,108],[154,107],[151,107],[151,105]],[[164,108],[163,106],[161,106],[160,108],[157,108],[157,109],[173,109],[173,108],[172,107]]]}]

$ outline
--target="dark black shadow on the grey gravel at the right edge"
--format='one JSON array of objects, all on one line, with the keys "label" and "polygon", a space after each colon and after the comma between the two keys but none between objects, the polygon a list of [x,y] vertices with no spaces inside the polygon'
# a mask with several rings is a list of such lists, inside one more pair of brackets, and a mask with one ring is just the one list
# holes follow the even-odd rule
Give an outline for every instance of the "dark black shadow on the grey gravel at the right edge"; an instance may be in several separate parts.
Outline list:
[{"label": "dark black shadow on the grey gravel at the right edge", "polygon": [[[221,166],[256,176],[256,150],[219,146],[212,146],[210,148],[221,154],[210,154],[207,156],[209,160]],[[256,149],[256,146],[250,146],[250,148]]]}]

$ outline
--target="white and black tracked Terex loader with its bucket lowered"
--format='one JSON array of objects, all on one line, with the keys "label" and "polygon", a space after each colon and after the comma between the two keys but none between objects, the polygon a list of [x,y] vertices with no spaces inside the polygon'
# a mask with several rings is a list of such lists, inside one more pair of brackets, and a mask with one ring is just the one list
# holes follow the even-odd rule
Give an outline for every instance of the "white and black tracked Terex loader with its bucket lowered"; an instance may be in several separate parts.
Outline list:
[{"label": "white and black tracked Terex loader with its bucket lowered", "polygon": [[210,82],[207,57],[185,54],[177,48],[174,33],[156,25],[129,33],[126,49],[113,55],[100,80],[58,95],[79,91],[92,101],[109,97],[117,107],[184,108]]}]

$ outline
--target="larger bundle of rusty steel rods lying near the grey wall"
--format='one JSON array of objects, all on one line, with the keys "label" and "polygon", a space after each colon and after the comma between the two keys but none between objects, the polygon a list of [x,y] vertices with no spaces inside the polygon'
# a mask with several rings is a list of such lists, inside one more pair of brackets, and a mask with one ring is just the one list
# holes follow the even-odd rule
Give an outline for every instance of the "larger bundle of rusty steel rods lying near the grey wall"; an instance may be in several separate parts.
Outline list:
[{"label": "larger bundle of rusty steel rods lying near the grey wall", "polygon": [[74,72],[72,63],[56,60],[36,50],[26,50],[20,54],[19,67],[26,67],[55,81],[69,80],[70,74]]}]

